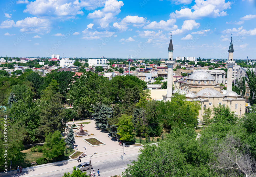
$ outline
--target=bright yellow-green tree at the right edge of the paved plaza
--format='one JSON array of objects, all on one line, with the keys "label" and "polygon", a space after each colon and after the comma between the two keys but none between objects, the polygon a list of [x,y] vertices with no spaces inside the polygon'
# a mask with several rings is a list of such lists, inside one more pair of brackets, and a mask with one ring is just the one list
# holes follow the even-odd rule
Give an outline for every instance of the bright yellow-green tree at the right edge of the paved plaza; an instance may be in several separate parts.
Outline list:
[{"label": "bright yellow-green tree at the right edge of the paved plaza", "polygon": [[119,118],[117,127],[120,140],[129,141],[133,137],[133,129],[132,116],[123,114]]}]

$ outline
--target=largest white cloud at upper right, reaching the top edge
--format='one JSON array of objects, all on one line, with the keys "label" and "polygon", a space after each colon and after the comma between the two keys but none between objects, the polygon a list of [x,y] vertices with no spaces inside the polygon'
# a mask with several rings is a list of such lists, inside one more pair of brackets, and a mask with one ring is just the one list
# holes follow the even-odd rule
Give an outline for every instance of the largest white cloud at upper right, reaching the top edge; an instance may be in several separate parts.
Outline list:
[{"label": "largest white cloud at upper right, reaching the top edge", "polygon": [[[190,18],[197,19],[202,17],[220,17],[226,16],[227,12],[223,11],[231,8],[231,2],[225,0],[195,0],[195,5],[190,8],[175,10],[171,13],[172,18]],[[193,11],[192,11],[193,10]]]}]

